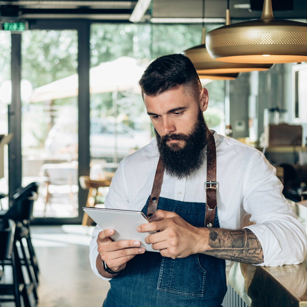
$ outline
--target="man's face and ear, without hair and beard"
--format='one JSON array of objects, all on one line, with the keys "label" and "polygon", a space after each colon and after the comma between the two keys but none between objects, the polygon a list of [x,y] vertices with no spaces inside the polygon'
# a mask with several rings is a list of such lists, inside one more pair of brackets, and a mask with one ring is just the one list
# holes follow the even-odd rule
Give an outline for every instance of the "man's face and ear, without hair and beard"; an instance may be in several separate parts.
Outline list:
[{"label": "man's face and ear, without hair and beard", "polygon": [[199,109],[204,112],[208,106],[208,92],[205,88],[200,92],[198,101],[181,85],[157,96],[144,94],[147,114],[157,133],[163,137],[168,135],[168,146],[183,148],[184,140],[172,138],[172,134],[189,135],[196,124]]}]

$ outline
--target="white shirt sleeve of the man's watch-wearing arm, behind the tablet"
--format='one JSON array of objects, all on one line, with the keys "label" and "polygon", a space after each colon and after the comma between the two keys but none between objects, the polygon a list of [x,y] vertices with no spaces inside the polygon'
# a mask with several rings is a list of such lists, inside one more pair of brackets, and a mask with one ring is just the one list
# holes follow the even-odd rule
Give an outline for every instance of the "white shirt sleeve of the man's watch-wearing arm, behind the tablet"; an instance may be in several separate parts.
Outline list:
[{"label": "white shirt sleeve of the man's watch-wearing arm, behind the tablet", "polygon": [[[124,174],[124,164],[125,159],[123,159],[118,169],[115,172],[115,175],[112,178],[112,182],[109,188],[109,193],[106,196],[105,200],[105,207],[106,208],[117,208],[117,209],[130,209],[128,198],[127,198],[127,184],[125,180],[125,174]],[[105,278],[101,276],[96,268],[96,259],[98,256],[98,244],[97,244],[97,237],[99,232],[102,231],[102,229],[96,225],[94,228],[92,239],[90,243],[90,263],[91,268],[93,272],[101,279],[103,280],[110,280],[111,278]]]}]

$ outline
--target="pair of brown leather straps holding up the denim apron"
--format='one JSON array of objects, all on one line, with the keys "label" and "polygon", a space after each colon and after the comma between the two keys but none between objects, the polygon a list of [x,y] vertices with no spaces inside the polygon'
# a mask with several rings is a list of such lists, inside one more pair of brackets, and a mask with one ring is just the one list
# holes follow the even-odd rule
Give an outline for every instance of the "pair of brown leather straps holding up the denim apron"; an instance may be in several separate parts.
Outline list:
[{"label": "pair of brown leather straps holding up the denim apron", "polygon": [[[206,191],[206,216],[205,227],[214,227],[214,217],[216,208],[216,191],[218,183],[216,182],[216,146],[212,132],[207,128],[207,181],[205,182]],[[153,188],[150,194],[150,200],[146,216],[152,216],[157,210],[157,204],[161,192],[161,186],[164,175],[164,166],[159,158],[156,174],[153,181]]]}]

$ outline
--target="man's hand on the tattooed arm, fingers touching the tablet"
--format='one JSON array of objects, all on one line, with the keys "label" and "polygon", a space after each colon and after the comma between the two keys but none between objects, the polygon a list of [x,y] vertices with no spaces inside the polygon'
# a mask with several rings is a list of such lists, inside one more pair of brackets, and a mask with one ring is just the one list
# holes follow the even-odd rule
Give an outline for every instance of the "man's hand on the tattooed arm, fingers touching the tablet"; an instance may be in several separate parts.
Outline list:
[{"label": "man's hand on the tattooed arm, fingers touching the tablet", "polygon": [[198,244],[202,240],[200,228],[187,223],[175,212],[165,210],[157,210],[150,221],[151,223],[139,226],[137,231],[160,230],[147,236],[145,242],[152,244],[152,248],[160,251],[162,256],[184,258],[198,252]]}]

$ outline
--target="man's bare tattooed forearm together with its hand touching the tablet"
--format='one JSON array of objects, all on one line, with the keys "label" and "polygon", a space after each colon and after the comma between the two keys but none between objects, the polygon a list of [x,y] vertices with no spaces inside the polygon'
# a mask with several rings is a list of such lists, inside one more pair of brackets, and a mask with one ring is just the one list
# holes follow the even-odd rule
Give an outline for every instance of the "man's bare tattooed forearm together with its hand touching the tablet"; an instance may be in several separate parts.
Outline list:
[{"label": "man's bare tattooed forearm together with its hand touching the tablet", "polygon": [[184,258],[203,253],[231,261],[261,264],[263,251],[256,235],[249,229],[194,227],[175,212],[157,210],[151,223],[137,228],[139,232],[158,231],[145,241],[160,254]]}]

